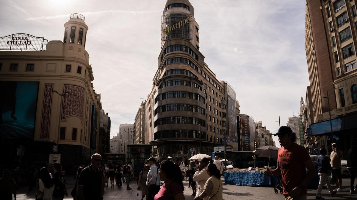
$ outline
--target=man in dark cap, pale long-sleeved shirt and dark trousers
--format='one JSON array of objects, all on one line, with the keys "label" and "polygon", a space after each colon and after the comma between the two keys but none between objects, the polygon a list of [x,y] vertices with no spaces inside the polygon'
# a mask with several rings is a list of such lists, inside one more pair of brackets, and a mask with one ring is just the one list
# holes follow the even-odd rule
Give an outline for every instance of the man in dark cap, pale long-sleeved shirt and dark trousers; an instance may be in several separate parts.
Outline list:
[{"label": "man in dark cap, pale long-sleeved shirt and dark trousers", "polygon": [[160,190],[160,177],[159,168],[156,167],[156,159],[151,157],[146,160],[147,164],[150,165],[149,172],[147,173],[146,185],[149,186],[149,192],[147,194],[147,200],[154,200],[154,196]]}]

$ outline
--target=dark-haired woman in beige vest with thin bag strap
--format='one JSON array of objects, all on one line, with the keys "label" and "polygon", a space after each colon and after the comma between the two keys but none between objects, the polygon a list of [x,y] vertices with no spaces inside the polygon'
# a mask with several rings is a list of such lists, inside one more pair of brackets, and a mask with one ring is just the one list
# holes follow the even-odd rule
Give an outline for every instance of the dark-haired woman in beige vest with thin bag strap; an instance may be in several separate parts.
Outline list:
[{"label": "dark-haired woman in beige vest with thin bag strap", "polygon": [[207,173],[210,176],[206,181],[205,188],[201,194],[198,194],[194,200],[210,199],[222,200],[223,199],[223,183],[221,180],[221,172],[213,163],[208,164]]}]

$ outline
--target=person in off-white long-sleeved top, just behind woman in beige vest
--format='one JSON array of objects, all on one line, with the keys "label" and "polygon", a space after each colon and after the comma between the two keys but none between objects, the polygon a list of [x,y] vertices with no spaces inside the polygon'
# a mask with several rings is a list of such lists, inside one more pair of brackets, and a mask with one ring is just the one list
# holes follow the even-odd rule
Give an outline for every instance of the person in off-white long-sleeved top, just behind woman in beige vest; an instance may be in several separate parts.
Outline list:
[{"label": "person in off-white long-sleeved top, just behind woman in beige vest", "polygon": [[198,165],[198,170],[193,175],[192,180],[196,181],[196,197],[203,192],[206,181],[210,178],[207,173],[207,165],[210,163],[210,160],[211,158],[202,158],[200,165]]}]

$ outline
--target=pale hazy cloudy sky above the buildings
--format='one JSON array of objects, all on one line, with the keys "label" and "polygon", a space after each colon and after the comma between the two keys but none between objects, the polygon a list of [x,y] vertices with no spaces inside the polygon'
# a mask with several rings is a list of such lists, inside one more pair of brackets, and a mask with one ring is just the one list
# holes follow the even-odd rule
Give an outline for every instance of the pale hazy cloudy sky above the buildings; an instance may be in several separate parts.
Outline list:
[{"label": "pale hazy cloudy sky above the buildings", "polygon": [[[304,0],[190,0],[205,63],[236,91],[241,114],[271,132],[298,116],[309,85]],[[152,88],[165,0],[0,0],[0,36],[63,40],[72,13],[85,16],[94,89],[111,117],[111,137],[134,123]],[[278,146],[277,137],[273,137]]]}]

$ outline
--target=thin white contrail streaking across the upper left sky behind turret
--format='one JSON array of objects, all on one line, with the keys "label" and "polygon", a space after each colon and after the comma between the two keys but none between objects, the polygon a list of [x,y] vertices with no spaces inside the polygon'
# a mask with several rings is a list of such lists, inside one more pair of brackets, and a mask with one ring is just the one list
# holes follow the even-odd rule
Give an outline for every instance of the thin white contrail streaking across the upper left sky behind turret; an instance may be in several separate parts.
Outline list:
[{"label": "thin white contrail streaking across the upper left sky behind turret", "polygon": [[[105,10],[105,11],[97,11],[97,12],[82,12],[82,15],[89,16],[89,15],[101,15],[101,14],[114,14],[114,13],[126,13],[126,14],[147,14],[153,12],[162,12],[160,10],[153,10],[153,11],[126,11],[126,10]],[[52,16],[42,16],[42,17],[30,17],[26,20],[49,20],[49,19],[56,19],[56,18],[66,18],[71,14],[65,15],[52,15]]]}]

